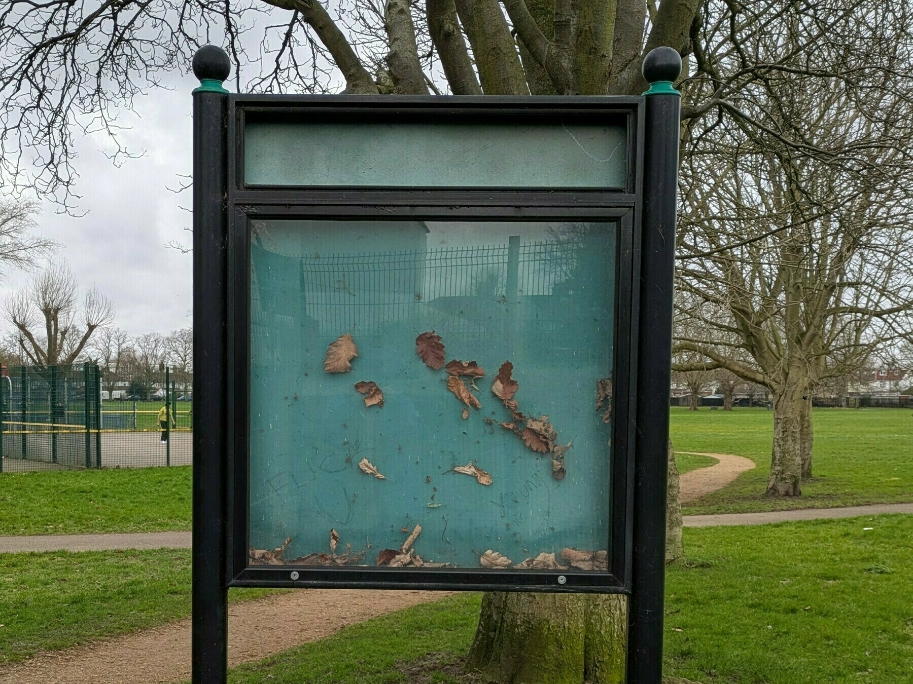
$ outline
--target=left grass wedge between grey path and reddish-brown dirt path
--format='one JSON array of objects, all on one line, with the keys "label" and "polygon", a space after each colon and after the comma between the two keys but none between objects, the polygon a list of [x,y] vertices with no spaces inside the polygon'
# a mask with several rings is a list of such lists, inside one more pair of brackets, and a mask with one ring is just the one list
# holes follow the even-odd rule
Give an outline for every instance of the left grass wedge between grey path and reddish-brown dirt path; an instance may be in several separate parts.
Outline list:
[{"label": "left grass wedge between grey path and reddish-brown dirt path", "polygon": [[189,549],[0,554],[0,663],[189,615]]}]

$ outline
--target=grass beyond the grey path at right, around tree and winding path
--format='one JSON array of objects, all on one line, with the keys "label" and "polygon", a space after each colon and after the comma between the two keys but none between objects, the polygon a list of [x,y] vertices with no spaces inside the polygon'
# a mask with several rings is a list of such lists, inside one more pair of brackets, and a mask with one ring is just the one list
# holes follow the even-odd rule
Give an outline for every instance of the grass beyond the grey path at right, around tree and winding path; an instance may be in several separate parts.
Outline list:
[{"label": "grass beyond the grey path at right, around tree and winding path", "polygon": [[764,496],[771,470],[771,411],[675,407],[671,419],[677,450],[734,453],[758,466],[685,506],[686,515],[913,501],[913,415],[908,409],[814,409],[814,477],[803,482],[803,495],[794,499]]}]

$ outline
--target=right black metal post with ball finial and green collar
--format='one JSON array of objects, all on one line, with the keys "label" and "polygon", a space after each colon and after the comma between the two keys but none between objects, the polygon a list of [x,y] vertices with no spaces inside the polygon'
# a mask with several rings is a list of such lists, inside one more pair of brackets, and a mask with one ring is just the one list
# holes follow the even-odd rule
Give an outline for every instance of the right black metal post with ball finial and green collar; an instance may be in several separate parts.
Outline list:
[{"label": "right black metal post with ball finial and green collar", "polygon": [[634,559],[628,609],[627,681],[663,679],[666,588],[666,472],[672,291],[676,244],[678,119],[681,98],[672,87],[681,57],[657,47],[644,59],[644,209],[641,229],[640,335],[637,343]]}]

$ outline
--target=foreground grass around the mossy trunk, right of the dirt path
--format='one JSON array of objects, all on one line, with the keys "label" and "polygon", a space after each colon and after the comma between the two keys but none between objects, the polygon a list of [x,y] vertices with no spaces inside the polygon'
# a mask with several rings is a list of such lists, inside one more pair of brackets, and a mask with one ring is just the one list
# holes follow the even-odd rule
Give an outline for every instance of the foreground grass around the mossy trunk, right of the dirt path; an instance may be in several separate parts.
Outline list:
[{"label": "foreground grass around the mossy trunk, right of the dirt path", "polygon": [[[666,580],[667,674],[704,684],[910,681],[913,516],[686,529],[685,544],[688,565]],[[462,595],[378,617],[234,668],[229,680],[458,682],[478,605]]]}]

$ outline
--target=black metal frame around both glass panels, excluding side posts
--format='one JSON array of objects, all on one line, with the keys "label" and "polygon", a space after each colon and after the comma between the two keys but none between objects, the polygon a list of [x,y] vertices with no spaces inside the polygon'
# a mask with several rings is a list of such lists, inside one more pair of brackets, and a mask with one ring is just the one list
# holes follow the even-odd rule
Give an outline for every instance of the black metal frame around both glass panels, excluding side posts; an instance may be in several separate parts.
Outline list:
[{"label": "black metal frame around both glass panels, excluding side posts", "polygon": [[[643,99],[613,98],[451,98],[446,107],[440,98],[277,98],[230,96],[228,98],[228,244],[227,344],[229,398],[226,432],[228,444],[227,586],[345,587],[463,589],[478,591],[551,591],[628,593],[632,544],[634,472],[633,438],[629,434],[636,396],[630,368],[635,367],[637,273],[632,269],[639,254]],[[423,101],[426,100],[426,101]],[[270,120],[312,121],[340,116],[358,120],[440,120],[459,116],[490,122],[518,116],[568,120],[624,119],[627,136],[627,169],[624,188],[572,191],[570,189],[434,190],[430,188],[304,187],[251,188],[244,181],[244,125],[251,116]],[[614,416],[612,471],[610,477],[609,572],[439,568],[373,568],[360,566],[264,566],[248,563],[248,398],[249,398],[249,242],[250,221],[323,218],[328,220],[429,220],[429,221],[600,221],[616,222]],[[624,398],[624,401],[621,399]],[[296,579],[291,578],[292,572]],[[559,575],[564,583],[558,581]]]}]

